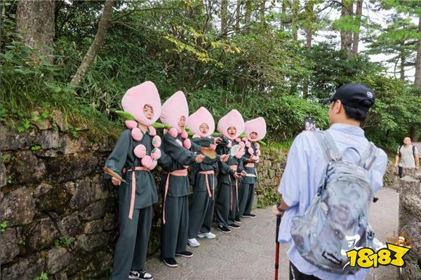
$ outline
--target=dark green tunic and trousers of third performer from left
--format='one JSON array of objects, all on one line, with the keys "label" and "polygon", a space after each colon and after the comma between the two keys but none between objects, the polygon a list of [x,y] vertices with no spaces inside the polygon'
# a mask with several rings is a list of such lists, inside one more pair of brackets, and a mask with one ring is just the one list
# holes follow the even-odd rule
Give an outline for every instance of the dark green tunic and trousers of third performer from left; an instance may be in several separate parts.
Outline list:
[{"label": "dark green tunic and trousers of third performer from left", "polygon": [[[213,138],[193,138],[192,141],[201,147],[209,147],[213,143]],[[215,171],[218,168],[218,158],[213,160],[213,164],[193,164],[192,184],[193,196],[189,207],[189,232],[188,238],[196,238],[199,231],[210,232],[213,221],[213,209],[215,206],[214,188],[216,185],[216,174],[199,174],[200,171]],[[209,189],[212,197],[209,197],[206,187],[206,177],[208,178]]]}]

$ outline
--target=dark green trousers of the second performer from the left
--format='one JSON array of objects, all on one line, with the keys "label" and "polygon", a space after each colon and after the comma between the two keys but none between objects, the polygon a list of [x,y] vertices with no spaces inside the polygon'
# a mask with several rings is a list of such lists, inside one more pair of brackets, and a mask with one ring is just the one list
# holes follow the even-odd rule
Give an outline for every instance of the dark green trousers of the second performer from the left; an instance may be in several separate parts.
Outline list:
[{"label": "dark green trousers of the second performer from the left", "polygon": [[167,196],[165,224],[161,227],[161,258],[174,258],[175,253],[186,251],[189,227],[188,196]]}]

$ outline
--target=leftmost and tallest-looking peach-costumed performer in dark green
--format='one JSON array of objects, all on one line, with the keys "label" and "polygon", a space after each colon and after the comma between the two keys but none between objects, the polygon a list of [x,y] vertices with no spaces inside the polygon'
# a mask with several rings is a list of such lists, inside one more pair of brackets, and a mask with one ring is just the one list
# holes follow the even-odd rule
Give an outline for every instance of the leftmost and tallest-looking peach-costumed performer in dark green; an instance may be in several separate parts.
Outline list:
[{"label": "leftmost and tallest-looking peach-costumed performer in dark green", "polygon": [[[171,164],[161,153],[161,138],[150,126],[161,112],[161,100],[155,85],[146,81],[130,88],[121,101],[124,111],[136,121],[126,121],[129,129],[121,133],[105,167],[125,180],[112,178],[119,186],[119,240],[114,252],[112,280],[153,279],[145,271],[147,244],[152,225],[152,204],[156,203],[156,186],[150,173],[159,162]],[[107,175],[109,176],[109,175]]]}]

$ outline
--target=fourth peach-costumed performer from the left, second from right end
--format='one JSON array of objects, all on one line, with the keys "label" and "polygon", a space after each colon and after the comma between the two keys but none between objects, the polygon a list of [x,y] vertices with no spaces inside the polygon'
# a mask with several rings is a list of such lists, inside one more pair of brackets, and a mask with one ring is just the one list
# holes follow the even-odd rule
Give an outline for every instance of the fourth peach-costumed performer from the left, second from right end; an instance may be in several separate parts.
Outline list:
[{"label": "fourth peach-costumed performer from the left, second from right end", "polygon": [[[241,140],[237,138],[244,130],[244,121],[241,114],[233,109],[218,122],[218,131],[223,135],[222,142],[216,151],[218,154],[231,154],[231,149],[239,147]],[[229,227],[238,229],[235,220],[238,200],[239,178],[243,171],[241,157],[244,148],[239,147],[236,154],[230,155],[227,162],[219,162],[218,199],[216,206],[216,222],[221,232],[231,232]]]}]

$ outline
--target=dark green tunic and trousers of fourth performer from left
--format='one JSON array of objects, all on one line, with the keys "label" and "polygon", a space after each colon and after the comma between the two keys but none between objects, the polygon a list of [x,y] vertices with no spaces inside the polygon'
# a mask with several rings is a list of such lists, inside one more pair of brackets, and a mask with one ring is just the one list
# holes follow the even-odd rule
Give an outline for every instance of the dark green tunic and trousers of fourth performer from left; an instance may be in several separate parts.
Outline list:
[{"label": "dark green tunic and trousers of fourth performer from left", "polygon": [[[230,149],[227,147],[228,140],[222,137],[223,141],[217,147],[218,154],[229,154]],[[232,141],[232,146],[238,145],[236,141]],[[243,171],[243,161],[237,159],[235,156],[229,156],[227,162],[219,161],[220,171],[218,173],[218,199],[216,204],[216,221],[218,225],[231,225],[234,223],[237,211],[237,193],[236,193],[236,178],[234,173]],[[236,165],[236,171],[229,166]],[[240,185],[240,182],[237,182]],[[232,203],[231,203],[232,201]]]}]

